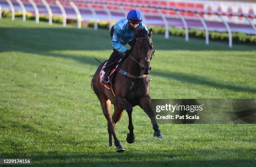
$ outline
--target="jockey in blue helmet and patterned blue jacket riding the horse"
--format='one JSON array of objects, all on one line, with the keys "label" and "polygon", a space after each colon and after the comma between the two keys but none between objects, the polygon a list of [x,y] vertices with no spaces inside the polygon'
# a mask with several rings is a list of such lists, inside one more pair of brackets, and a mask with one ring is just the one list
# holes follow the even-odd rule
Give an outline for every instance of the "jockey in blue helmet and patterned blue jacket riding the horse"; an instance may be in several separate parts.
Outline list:
[{"label": "jockey in blue helmet and patterned blue jacket riding the horse", "polygon": [[108,59],[108,63],[104,69],[105,74],[102,77],[101,83],[108,83],[108,74],[113,69],[113,65],[111,63],[115,62],[118,58],[119,54],[122,56],[128,52],[128,49],[125,48],[123,45],[127,43],[131,46],[130,51],[132,51],[133,46],[136,43],[136,39],[134,39],[133,31],[136,28],[146,28],[146,25],[142,23],[142,15],[141,12],[138,10],[131,10],[128,15],[127,19],[119,20],[110,30],[110,36],[112,38],[112,46],[113,46],[113,53],[110,55]]}]

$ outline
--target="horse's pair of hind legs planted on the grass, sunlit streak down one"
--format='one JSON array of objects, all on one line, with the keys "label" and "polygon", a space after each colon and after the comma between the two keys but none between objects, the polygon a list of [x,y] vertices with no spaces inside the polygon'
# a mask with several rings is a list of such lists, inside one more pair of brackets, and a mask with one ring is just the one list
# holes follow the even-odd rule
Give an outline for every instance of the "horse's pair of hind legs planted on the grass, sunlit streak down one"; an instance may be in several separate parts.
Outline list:
[{"label": "horse's pair of hind legs planted on the grass, sunlit streak down one", "polygon": [[101,107],[102,107],[103,114],[104,114],[105,118],[108,121],[108,132],[109,132],[109,145],[110,145],[110,147],[112,146],[112,137],[110,136],[112,134],[113,138],[115,140],[114,143],[115,143],[115,146],[117,147],[117,151],[118,152],[124,151],[123,147],[120,145],[120,142],[119,142],[119,140],[118,140],[118,138],[116,137],[116,134],[115,134],[115,122],[113,121],[113,119],[111,117],[111,111],[110,111],[111,103],[110,103],[110,100],[107,100],[107,101],[101,100],[100,104],[101,104]]}]

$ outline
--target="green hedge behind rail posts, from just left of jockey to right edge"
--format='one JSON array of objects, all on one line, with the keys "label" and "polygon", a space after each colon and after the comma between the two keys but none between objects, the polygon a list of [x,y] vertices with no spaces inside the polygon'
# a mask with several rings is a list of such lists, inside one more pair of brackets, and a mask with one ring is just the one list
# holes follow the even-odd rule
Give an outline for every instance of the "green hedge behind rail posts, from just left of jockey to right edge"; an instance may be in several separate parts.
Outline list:
[{"label": "green hedge behind rail posts, from just left of jockey to right edge", "polygon": [[[87,26],[93,27],[94,21],[88,22]],[[108,28],[108,26],[109,26],[109,22],[107,21],[98,22],[99,28]],[[153,32],[156,34],[164,34],[165,32],[164,27],[161,27],[161,26],[154,26],[149,28],[152,28]],[[169,27],[169,33],[170,35],[175,35],[175,36],[185,36],[185,30],[181,28],[176,28],[176,27]],[[205,38],[205,31],[191,28],[189,29],[189,37]],[[211,40],[228,41],[228,33],[219,33],[219,32],[210,31],[209,38]],[[247,35],[246,33],[232,32],[232,38],[234,43],[252,43],[252,44],[256,43],[256,35]]]}]

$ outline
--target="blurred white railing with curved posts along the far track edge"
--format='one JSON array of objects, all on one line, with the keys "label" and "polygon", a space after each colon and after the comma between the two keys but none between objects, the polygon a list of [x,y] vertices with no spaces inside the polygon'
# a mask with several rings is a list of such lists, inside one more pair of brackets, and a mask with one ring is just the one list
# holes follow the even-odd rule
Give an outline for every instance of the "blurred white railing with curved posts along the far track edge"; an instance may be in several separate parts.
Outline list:
[{"label": "blurred white railing with curved posts along the far track edge", "polygon": [[[126,0],[127,1],[127,0]],[[94,29],[98,29],[97,21],[100,20],[100,18],[97,17],[96,10],[102,10],[107,13],[107,17],[109,20],[109,28],[113,25],[114,17],[112,15],[113,12],[119,12],[123,13],[124,17],[126,17],[129,10],[132,9],[138,9],[141,10],[142,13],[151,15],[151,16],[160,16],[162,21],[164,22],[165,27],[165,38],[169,38],[169,23],[167,21],[167,17],[172,15],[175,18],[179,18],[182,20],[182,23],[184,25],[185,29],[185,40],[189,40],[189,29],[187,26],[187,21],[185,16],[192,16],[197,18],[197,20],[200,20],[200,22],[203,25],[203,28],[205,30],[205,43],[209,44],[209,32],[208,27],[205,22],[205,18],[203,15],[216,15],[218,16],[223,24],[226,27],[226,30],[228,31],[229,35],[229,47],[232,47],[232,32],[230,29],[230,26],[227,22],[227,20],[224,17],[239,17],[239,18],[246,18],[248,23],[251,25],[251,27],[254,30],[254,33],[256,34],[256,27],[252,20],[256,18],[256,15],[253,13],[233,13],[233,12],[222,12],[222,11],[211,11],[211,10],[204,10],[204,9],[194,9],[194,8],[184,8],[184,7],[172,7],[168,6],[164,3],[160,3],[160,5],[154,5],[151,4],[151,1],[149,0],[138,0],[137,3],[133,3],[135,1],[129,0],[126,2],[125,0],[6,0],[8,5],[10,6],[10,10],[12,12],[12,20],[15,19],[15,8],[13,6],[13,3],[18,3],[20,5],[20,8],[23,13],[23,21],[26,20],[26,8],[24,4],[30,4],[33,7],[34,14],[36,15],[35,21],[36,23],[39,23],[39,11],[38,11],[38,5],[44,5],[44,7],[47,9],[48,15],[49,15],[49,24],[52,24],[52,10],[51,8],[58,7],[61,11],[62,17],[63,17],[63,26],[66,26],[67,24],[67,13],[65,8],[72,8],[76,15],[77,15],[77,27],[82,27],[82,17],[80,10],[90,10],[93,16],[93,19],[95,21],[94,23]],[[1,1],[0,1],[1,2]],[[154,2],[154,1],[152,1]],[[2,8],[0,5],[0,13]],[[0,18],[2,17],[2,14],[0,15]],[[147,20],[146,17],[143,15],[143,22],[146,24]]]}]

